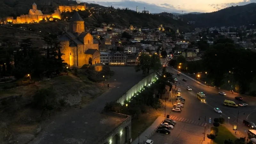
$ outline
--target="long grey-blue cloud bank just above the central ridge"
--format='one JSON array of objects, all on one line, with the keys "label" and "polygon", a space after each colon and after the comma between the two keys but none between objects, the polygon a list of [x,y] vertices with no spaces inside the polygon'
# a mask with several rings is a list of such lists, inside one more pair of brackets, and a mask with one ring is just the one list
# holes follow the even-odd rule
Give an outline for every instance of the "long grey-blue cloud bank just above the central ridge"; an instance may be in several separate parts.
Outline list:
[{"label": "long grey-blue cloud bank just above the central ridge", "polygon": [[[93,3],[93,1],[87,1],[88,3]],[[177,12],[181,13],[182,10],[179,10],[180,7],[176,8],[171,4],[148,4],[142,1],[130,1],[130,0],[121,0],[119,2],[103,2],[103,1],[95,1],[96,4],[100,4],[103,6],[110,6],[112,5],[114,8],[126,8],[128,7],[131,10],[136,11],[136,6],[138,6],[139,11],[143,11],[144,7],[146,7],[150,13],[160,13],[160,12]],[[183,10],[183,13],[187,12]]]}]

